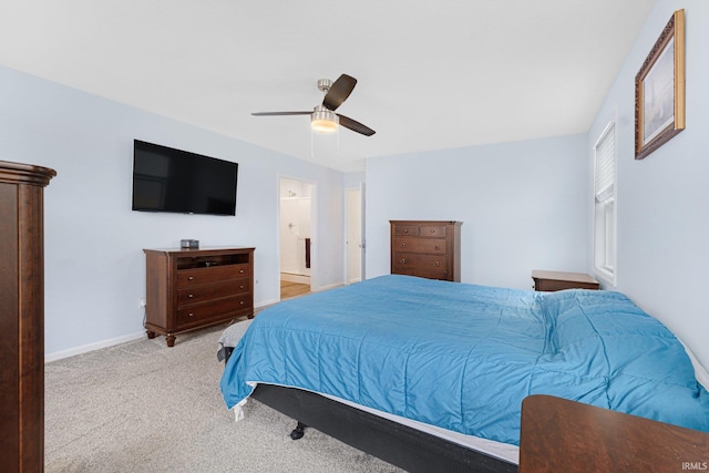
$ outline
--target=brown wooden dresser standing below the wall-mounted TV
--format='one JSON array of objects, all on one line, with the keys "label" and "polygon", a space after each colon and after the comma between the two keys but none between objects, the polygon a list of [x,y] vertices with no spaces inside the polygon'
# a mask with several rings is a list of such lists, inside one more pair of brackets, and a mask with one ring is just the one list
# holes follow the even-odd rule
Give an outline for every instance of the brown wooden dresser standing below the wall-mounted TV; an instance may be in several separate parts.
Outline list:
[{"label": "brown wooden dresser standing below the wall-mounted TV", "polygon": [[254,317],[255,248],[144,249],[147,338]]}]

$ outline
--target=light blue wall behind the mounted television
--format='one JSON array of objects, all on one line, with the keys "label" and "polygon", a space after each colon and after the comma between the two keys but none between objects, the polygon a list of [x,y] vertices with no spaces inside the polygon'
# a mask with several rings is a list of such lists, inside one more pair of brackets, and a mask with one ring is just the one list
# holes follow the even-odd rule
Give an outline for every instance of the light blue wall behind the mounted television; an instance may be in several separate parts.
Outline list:
[{"label": "light blue wall behind the mounted television", "polygon": [[[237,216],[132,212],[134,138],[238,162]],[[314,286],[342,282],[342,173],[3,66],[0,160],[58,172],[44,194],[50,356],[138,336],[142,249],[175,248],[182,238],[202,246],[255,246],[255,304],[277,301],[281,175],[317,187]]]}]

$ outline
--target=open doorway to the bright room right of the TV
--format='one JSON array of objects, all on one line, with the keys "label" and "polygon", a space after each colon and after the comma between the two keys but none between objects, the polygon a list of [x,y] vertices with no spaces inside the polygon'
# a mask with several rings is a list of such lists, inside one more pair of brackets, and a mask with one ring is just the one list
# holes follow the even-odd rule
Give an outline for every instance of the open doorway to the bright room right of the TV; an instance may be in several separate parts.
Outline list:
[{"label": "open doorway to the bright room right of the TV", "polygon": [[312,198],[315,185],[281,177],[280,205],[280,298],[310,292],[312,254]]}]

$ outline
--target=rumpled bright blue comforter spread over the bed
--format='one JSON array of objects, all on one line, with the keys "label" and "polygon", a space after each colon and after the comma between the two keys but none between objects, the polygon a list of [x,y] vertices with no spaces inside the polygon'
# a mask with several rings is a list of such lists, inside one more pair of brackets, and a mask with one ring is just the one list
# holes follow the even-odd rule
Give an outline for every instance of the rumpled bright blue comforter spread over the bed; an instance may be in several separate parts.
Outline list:
[{"label": "rumpled bright blue comforter spread over the bed", "polygon": [[709,394],[680,342],[609,291],[391,275],[287,300],[260,312],[235,348],[226,404],[255,383],[512,444],[522,400],[542,393],[709,431]]}]

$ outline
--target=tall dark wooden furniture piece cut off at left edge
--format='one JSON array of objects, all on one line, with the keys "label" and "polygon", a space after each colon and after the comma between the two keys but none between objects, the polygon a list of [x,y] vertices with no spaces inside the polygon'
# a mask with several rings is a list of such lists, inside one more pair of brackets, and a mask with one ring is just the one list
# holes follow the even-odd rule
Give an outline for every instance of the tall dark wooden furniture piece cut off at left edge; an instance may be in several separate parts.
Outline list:
[{"label": "tall dark wooden furniture piece cut off at left edge", "polygon": [[0,459],[44,469],[44,186],[54,169],[0,161]]}]

